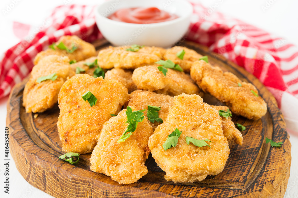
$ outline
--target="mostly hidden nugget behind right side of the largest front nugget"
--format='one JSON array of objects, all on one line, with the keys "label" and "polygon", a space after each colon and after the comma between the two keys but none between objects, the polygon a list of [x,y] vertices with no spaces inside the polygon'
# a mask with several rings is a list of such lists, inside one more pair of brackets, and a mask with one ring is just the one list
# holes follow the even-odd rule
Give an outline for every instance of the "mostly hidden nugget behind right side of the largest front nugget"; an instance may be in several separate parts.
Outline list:
[{"label": "mostly hidden nugget behind right side of the largest front nugget", "polygon": [[[229,107],[226,106],[215,106],[215,105],[210,105],[211,107],[215,108],[216,110],[224,110],[227,111]],[[242,145],[243,143],[243,137],[242,134],[238,129],[236,129],[234,122],[232,121],[231,117],[225,118],[223,116],[220,116],[221,118],[221,128],[223,129],[224,132],[224,137],[229,142],[229,145],[232,145],[233,142],[236,144]]]}]

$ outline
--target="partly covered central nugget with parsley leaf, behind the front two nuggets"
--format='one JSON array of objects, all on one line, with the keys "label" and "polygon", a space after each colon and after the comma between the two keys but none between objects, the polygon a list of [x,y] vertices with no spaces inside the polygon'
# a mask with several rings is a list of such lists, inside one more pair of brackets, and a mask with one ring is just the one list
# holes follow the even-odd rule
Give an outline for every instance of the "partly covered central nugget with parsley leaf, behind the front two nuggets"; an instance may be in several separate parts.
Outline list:
[{"label": "partly covered central nugget with parsley leaf, behind the front two nuggets", "polygon": [[[146,109],[148,110],[148,105],[161,107],[158,112],[158,117],[162,118],[164,121],[169,113],[169,107],[173,106],[174,98],[172,96],[167,96],[164,94],[156,94],[152,91],[142,91],[136,90],[129,95],[129,107],[134,107],[136,110]],[[147,111],[144,112],[147,118]],[[150,122],[153,130],[160,124],[159,122]]]}]

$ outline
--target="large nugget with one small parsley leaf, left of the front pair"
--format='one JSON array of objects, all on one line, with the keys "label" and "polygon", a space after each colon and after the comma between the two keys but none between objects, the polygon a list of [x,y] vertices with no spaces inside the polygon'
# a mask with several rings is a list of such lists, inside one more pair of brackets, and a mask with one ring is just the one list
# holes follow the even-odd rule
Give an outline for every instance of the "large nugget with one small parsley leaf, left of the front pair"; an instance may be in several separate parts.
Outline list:
[{"label": "large nugget with one small parsley leaf, left of the front pair", "polygon": [[[90,91],[96,98],[91,107],[82,95]],[[89,153],[97,143],[103,123],[117,114],[128,100],[127,89],[114,80],[76,74],[62,86],[58,103],[58,132],[65,152]]]}]

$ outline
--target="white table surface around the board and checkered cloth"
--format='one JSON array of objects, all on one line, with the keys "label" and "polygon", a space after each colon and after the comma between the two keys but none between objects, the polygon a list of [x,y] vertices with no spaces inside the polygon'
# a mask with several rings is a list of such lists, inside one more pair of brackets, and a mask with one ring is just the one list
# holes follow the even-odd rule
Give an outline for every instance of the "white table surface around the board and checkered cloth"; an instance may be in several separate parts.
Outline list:
[{"label": "white table surface around the board and checkered cloth", "polygon": [[[7,5],[13,1],[18,3],[15,7],[7,13],[3,14],[3,9],[6,9]],[[195,0],[193,0],[195,1]],[[0,54],[6,51],[9,47],[15,45],[19,40],[11,34],[12,22],[18,21],[25,24],[31,24],[39,26],[43,19],[49,15],[51,10],[58,5],[63,5],[65,2],[71,4],[96,4],[95,0],[79,1],[79,0],[51,0],[51,1],[39,1],[39,0],[1,0],[0,1]],[[206,6],[212,6],[216,2],[219,3],[219,7],[216,10],[226,13],[227,15],[234,16],[235,18],[246,21],[252,25],[263,28],[264,30],[274,33],[280,37],[283,37],[286,41],[292,42],[298,45],[298,1],[297,0],[201,0]],[[268,9],[264,10],[266,7]],[[268,6],[270,5],[270,6]],[[7,30],[7,31],[6,31]],[[21,176],[15,167],[15,164],[10,157],[10,194],[4,193],[4,127],[6,126],[6,103],[8,97],[0,99],[0,131],[2,137],[0,138],[2,146],[0,148],[0,197],[9,198],[48,198],[52,197],[43,191],[34,188]],[[289,104],[291,105],[291,104]],[[291,135],[290,142],[292,144],[292,164],[290,178],[288,181],[288,188],[285,193],[285,197],[292,198],[298,197],[298,137]]]}]

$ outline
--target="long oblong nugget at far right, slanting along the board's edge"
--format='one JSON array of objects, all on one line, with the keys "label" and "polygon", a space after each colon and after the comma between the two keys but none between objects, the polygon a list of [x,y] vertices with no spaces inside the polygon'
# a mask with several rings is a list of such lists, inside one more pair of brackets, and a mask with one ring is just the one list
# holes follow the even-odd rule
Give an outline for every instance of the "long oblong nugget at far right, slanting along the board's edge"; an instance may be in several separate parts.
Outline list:
[{"label": "long oblong nugget at far right, slanting along the board's edge", "polygon": [[203,91],[209,92],[221,102],[226,102],[230,110],[237,115],[257,120],[267,112],[266,102],[255,95],[258,94],[255,86],[242,82],[230,72],[223,72],[219,67],[201,60],[193,63],[190,76]]}]

